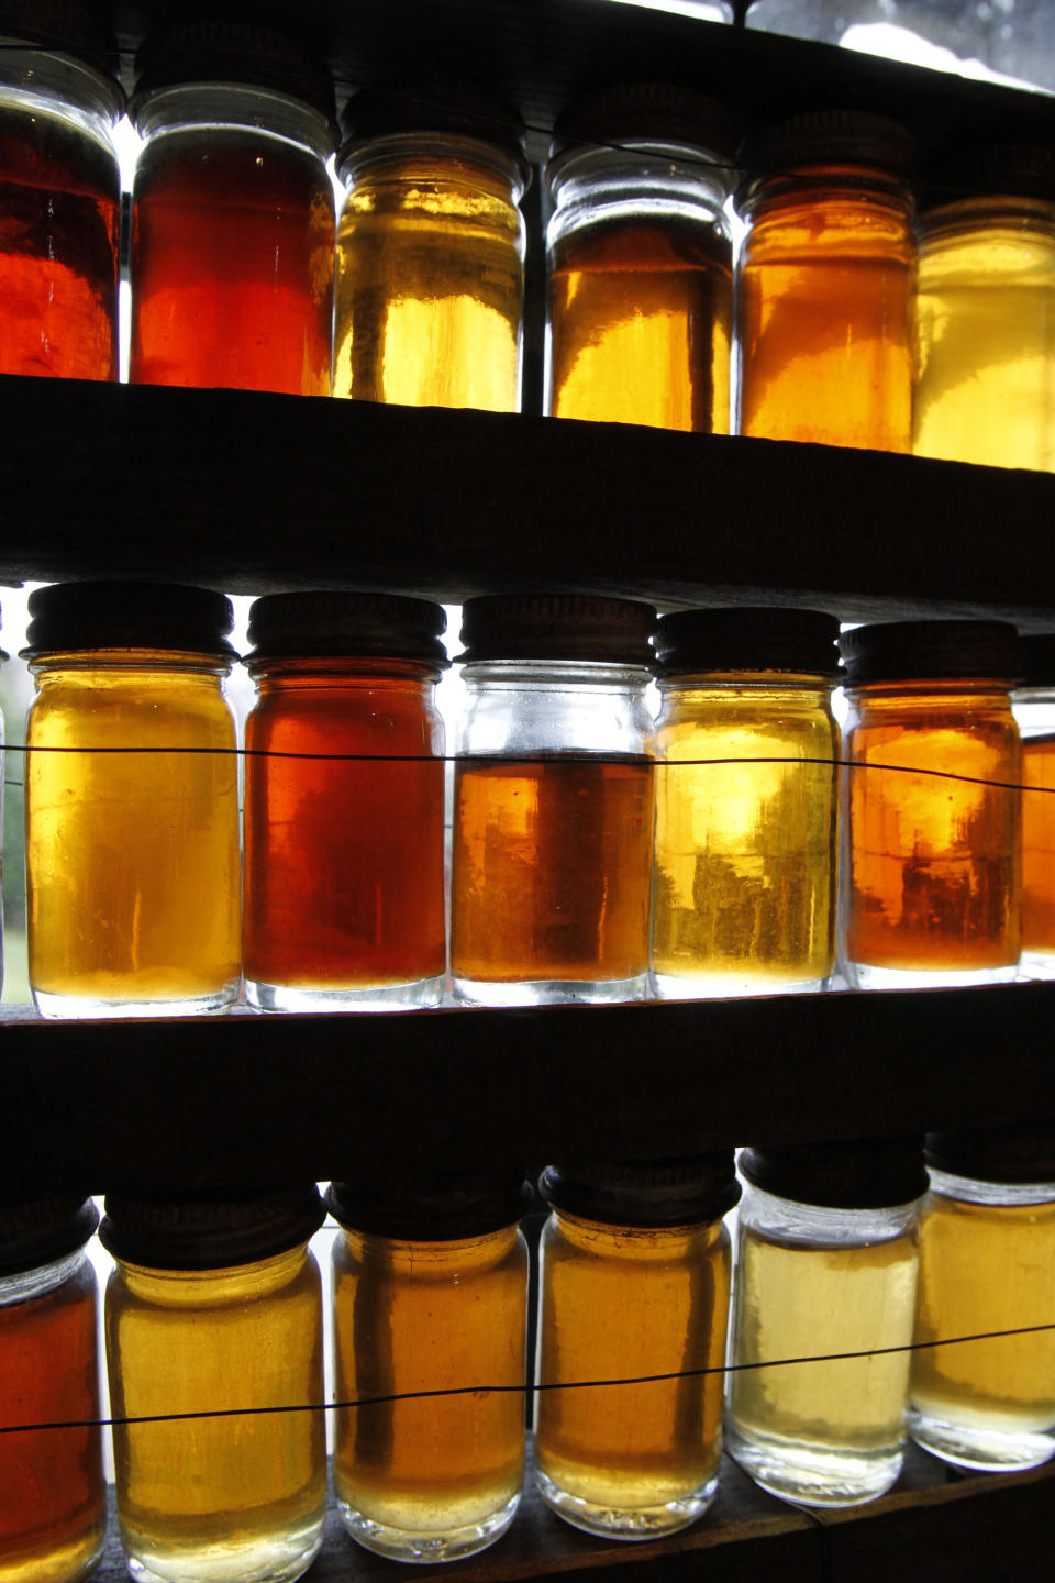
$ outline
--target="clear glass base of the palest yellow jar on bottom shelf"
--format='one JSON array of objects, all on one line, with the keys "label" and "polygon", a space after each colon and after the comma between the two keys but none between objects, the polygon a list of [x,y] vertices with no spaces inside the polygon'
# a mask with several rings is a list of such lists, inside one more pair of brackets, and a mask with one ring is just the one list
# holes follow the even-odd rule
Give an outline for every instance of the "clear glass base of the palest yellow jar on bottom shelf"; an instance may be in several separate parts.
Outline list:
[{"label": "clear glass base of the palest yellow jar on bottom shelf", "polygon": [[903,1445],[862,1452],[758,1431],[747,1436],[735,1422],[726,1425],[726,1447],[762,1490],[819,1507],[875,1501],[897,1483],[905,1460]]}]

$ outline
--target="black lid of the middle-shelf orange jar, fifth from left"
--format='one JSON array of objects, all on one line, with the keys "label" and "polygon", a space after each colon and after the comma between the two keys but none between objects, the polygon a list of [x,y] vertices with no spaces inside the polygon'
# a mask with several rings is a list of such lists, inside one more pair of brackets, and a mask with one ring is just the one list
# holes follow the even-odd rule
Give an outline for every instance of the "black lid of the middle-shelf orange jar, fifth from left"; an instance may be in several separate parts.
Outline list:
[{"label": "black lid of the middle-shelf orange jar, fifth from left", "polygon": [[843,632],[846,685],[1019,673],[1019,638],[1006,621],[886,621]]}]

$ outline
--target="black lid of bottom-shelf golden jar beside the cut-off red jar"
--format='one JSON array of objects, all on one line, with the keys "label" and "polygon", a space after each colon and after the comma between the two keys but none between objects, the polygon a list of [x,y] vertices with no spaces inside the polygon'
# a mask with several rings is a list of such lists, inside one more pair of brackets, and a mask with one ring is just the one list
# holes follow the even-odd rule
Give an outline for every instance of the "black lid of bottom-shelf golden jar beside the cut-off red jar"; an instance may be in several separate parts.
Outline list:
[{"label": "black lid of bottom-shelf golden jar beside the cut-off red jar", "polygon": [[324,1219],[315,1183],[253,1195],[108,1194],[100,1241],[149,1270],[226,1270],[307,1243]]}]

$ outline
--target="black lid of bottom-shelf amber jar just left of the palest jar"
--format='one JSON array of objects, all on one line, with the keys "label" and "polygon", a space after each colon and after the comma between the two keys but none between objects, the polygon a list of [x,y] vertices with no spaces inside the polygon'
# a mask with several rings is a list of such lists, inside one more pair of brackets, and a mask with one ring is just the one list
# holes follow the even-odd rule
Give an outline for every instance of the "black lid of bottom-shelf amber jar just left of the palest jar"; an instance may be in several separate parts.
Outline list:
[{"label": "black lid of bottom-shelf amber jar just left of the palest jar", "polygon": [[637,1228],[720,1220],[740,1197],[732,1149],[671,1160],[547,1165],[538,1190],[554,1209]]}]

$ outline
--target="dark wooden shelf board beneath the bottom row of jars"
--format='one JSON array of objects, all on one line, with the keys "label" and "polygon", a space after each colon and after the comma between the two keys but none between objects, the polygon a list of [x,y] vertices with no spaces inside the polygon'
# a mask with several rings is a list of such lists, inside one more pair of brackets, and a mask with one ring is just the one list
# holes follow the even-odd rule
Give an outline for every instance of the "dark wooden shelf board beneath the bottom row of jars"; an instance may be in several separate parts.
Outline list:
[{"label": "dark wooden shelf board beneath the bottom row of jars", "polygon": [[[467,1583],[536,1577],[587,1578],[618,1567],[625,1583],[1015,1583],[1050,1578],[1055,1463],[1027,1474],[957,1474],[909,1447],[894,1490],[870,1505],[807,1513],[764,1494],[728,1456],[715,1504],[693,1528],[664,1540],[615,1543],[562,1523],[530,1490],[509,1532],[482,1555],[408,1569],[361,1550],[331,1507],[323,1550],[305,1583],[443,1575]],[[112,1510],[96,1583],[127,1583]]]}]

